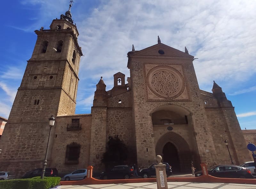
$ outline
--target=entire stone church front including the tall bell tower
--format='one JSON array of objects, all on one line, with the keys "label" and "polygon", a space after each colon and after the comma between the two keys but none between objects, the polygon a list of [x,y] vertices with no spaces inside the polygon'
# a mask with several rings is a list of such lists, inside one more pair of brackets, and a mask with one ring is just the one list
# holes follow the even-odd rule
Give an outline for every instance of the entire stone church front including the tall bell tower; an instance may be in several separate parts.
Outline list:
[{"label": "entire stone church front including the tall bell tower", "polygon": [[[71,6],[70,6],[71,7]],[[230,164],[224,140],[235,164],[250,161],[234,107],[221,87],[199,89],[194,56],[158,43],[128,52],[130,77],[114,74],[106,91],[100,78],[90,114],[75,114],[80,57],[79,35],[70,8],[49,30],[37,34],[32,57],[22,78],[0,141],[1,168],[19,175],[42,167],[48,118],[56,117],[50,136],[48,167],[59,172],[93,165],[101,158],[108,136],[118,135],[136,154],[140,167],[156,162],[156,155],[176,172],[204,162]]]}]

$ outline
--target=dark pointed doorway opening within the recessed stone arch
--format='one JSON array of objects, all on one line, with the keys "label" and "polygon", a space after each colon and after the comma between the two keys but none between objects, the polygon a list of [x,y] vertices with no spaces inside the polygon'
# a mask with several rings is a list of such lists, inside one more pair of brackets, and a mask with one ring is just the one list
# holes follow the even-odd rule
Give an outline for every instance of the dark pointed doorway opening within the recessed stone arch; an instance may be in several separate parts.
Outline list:
[{"label": "dark pointed doorway opening within the recessed stone arch", "polygon": [[172,166],[172,171],[177,173],[180,170],[180,158],[177,148],[171,143],[167,142],[163,148],[163,162]]}]

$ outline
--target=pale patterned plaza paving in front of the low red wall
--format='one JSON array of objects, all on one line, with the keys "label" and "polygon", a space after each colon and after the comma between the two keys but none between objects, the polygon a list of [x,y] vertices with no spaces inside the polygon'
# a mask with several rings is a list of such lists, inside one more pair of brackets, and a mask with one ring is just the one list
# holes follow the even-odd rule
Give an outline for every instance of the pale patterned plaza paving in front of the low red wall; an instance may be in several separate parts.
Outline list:
[{"label": "pale patterned plaza paving in front of the low red wall", "polygon": [[[168,189],[256,189],[256,185],[228,183],[168,182]],[[66,185],[61,189],[157,189],[156,183]]]}]

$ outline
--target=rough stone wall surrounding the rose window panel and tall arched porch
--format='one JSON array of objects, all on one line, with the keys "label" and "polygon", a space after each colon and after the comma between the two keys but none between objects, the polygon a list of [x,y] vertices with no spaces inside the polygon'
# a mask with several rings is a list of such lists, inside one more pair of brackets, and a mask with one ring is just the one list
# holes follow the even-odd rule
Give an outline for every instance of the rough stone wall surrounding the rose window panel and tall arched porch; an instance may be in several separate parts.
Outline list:
[{"label": "rough stone wall surrounding the rose window panel and tall arched porch", "polygon": [[[183,61],[183,62],[182,62]],[[135,114],[135,127],[136,127],[136,141],[137,141],[137,153],[138,162],[154,162],[154,134],[152,129],[152,122],[149,113],[152,113],[155,108],[162,105],[168,105],[170,102],[146,102],[145,101],[145,84],[143,76],[143,62],[156,62],[159,65],[168,62],[172,63],[183,63],[186,79],[188,82],[188,88],[191,95],[192,101],[186,102],[171,102],[172,105],[178,105],[189,112],[191,112],[193,118],[194,132],[196,133],[197,147],[202,162],[212,164],[216,159],[216,151],[214,149],[213,140],[210,132],[207,118],[205,115],[204,107],[202,106],[202,100],[199,97],[200,90],[198,87],[195,71],[193,64],[185,60],[168,60],[168,59],[144,59],[143,61],[136,61],[135,58],[132,61],[131,70],[131,81],[133,89],[133,100],[134,100],[134,114]],[[201,106],[200,106],[201,104]],[[146,141],[146,142],[143,142]],[[150,154],[147,158],[140,159],[140,152],[147,146]],[[207,149],[207,153],[205,150]],[[141,154],[143,157],[143,154]]]}]

